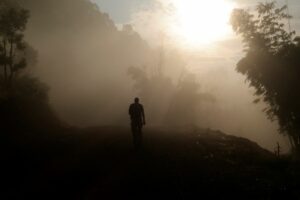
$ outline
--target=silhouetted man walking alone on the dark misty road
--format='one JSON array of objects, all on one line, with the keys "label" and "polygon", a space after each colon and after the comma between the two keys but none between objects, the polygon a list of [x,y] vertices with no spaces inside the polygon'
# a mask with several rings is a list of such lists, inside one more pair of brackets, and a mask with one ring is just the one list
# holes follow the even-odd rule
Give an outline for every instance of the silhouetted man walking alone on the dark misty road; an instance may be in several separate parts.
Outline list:
[{"label": "silhouetted man walking alone on the dark misty road", "polygon": [[134,99],[134,103],[129,107],[129,115],[131,119],[131,131],[133,134],[133,145],[135,149],[139,149],[142,145],[142,128],[146,124],[145,112],[139,98]]}]

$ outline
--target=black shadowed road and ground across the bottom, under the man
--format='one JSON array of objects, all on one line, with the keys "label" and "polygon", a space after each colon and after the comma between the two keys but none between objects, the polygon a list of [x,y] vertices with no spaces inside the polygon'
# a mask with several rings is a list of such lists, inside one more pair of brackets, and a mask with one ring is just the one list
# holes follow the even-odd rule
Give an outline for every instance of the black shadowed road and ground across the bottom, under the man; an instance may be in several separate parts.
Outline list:
[{"label": "black shadowed road and ground across the bottom, under the man", "polygon": [[218,131],[70,129],[2,147],[0,199],[300,199],[296,162]]}]

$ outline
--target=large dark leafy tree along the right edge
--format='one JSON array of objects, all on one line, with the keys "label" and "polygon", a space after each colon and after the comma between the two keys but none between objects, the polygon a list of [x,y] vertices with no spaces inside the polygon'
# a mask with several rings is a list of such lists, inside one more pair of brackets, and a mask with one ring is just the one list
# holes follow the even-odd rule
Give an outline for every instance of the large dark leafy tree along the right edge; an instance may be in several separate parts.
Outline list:
[{"label": "large dark leafy tree along the right edge", "polygon": [[291,18],[286,9],[275,2],[259,3],[254,14],[235,9],[231,25],[245,47],[237,71],[256,89],[254,102],[266,102],[269,119],[278,121],[280,132],[300,152],[300,45],[295,32],[285,29]]}]

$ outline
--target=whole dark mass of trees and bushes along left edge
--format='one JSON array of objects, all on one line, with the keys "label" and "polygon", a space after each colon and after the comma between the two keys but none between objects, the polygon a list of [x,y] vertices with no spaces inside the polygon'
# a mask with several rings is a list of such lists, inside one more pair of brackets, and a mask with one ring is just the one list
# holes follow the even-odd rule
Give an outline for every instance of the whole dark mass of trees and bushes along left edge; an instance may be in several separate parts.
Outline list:
[{"label": "whole dark mass of trees and bushes along left edge", "polygon": [[36,52],[24,41],[28,19],[28,10],[1,2],[0,123],[6,135],[58,124],[48,105],[48,87],[26,71],[36,58]]}]

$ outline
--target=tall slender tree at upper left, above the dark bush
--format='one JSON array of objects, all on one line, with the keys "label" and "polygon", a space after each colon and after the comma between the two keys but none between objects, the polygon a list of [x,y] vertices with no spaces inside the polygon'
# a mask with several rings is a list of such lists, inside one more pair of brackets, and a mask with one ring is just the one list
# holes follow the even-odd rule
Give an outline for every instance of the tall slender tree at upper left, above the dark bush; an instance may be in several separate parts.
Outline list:
[{"label": "tall slender tree at upper left, above the dark bush", "polygon": [[4,83],[11,85],[15,74],[25,68],[24,31],[29,12],[15,7],[2,7],[0,12],[0,66]]}]

